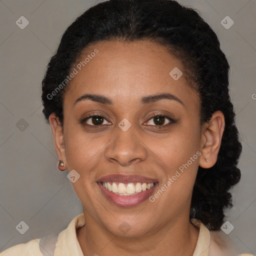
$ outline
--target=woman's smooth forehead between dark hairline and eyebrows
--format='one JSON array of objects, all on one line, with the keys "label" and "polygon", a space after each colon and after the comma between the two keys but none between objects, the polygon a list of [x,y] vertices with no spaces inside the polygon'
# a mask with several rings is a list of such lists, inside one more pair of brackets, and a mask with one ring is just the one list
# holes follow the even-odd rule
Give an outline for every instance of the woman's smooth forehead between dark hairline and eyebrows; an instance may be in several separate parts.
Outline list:
[{"label": "woman's smooth forehead between dark hairline and eyebrows", "polygon": [[[91,44],[73,68],[77,72],[68,84],[64,104],[85,93],[104,94],[119,102],[129,99],[132,104],[141,96],[160,92],[170,92],[184,101],[197,97],[183,75],[182,62],[164,46],[147,40]],[[180,72],[177,75],[183,74],[175,80],[172,70]]]}]

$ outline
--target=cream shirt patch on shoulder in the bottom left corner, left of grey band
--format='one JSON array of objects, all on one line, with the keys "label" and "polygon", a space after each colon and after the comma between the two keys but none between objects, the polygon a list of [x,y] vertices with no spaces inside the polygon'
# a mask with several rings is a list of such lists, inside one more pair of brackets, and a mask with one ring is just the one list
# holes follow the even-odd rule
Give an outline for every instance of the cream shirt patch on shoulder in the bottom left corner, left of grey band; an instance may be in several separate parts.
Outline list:
[{"label": "cream shirt patch on shoulder in the bottom left corner, left of grey band", "polygon": [[0,256],[43,256],[39,248],[41,238],[16,244],[0,253]]}]

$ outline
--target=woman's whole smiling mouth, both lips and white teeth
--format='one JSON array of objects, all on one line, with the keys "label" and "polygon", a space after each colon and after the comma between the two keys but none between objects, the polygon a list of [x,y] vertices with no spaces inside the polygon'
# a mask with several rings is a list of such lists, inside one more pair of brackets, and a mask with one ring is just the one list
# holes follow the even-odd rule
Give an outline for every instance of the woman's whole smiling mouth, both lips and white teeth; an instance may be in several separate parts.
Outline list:
[{"label": "woman's whole smiling mouth, both lips and white teeth", "polygon": [[158,182],[138,175],[108,175],[97,181],[104,196],[119,207],[132,207],[145,201]]}]

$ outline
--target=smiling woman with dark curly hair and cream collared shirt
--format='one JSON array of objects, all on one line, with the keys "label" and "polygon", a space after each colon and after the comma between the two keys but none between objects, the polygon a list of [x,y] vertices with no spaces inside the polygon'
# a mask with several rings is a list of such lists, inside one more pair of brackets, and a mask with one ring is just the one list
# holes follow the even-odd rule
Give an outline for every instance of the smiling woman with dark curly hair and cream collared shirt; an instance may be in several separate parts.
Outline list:
[{"label": "smiling woman with dark curly hair and cream collared shirt", "polygon": [[1,255],[238,255],[219,231],[240,179],[228,69],[216,34],[176,1],[85,11],[42,81],[83,213]]}]

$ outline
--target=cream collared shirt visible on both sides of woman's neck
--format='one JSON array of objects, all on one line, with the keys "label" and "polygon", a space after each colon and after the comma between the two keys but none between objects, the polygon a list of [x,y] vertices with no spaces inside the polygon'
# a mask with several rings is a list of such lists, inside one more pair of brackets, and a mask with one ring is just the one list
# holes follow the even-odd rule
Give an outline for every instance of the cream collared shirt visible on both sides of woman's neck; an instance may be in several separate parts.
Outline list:
[{"label": "cream collared shirt visible on both sides of woman's neck", "polygon": [[[193,256],[227,256],[224,250],[218,246],[218,234],[210,232],[208,228],[198,219],[191,219],[191,222],[199,227],[199,235]],[[55,249],[51,256],[84,256],[76,236],[76,228],[83,226],[85,219],[83,213],[74,217],[67,228],[62,230],[56,237],[57,242],[52,239],[52,245]],[[7,248],[0,253],[0,256],[43,256],[40,250],[39,242],[41,238],[30,240],[26,243],[20,243]],[[50,241],[48,242],[50,243]],[[45,247],[46,251],[47,248]],[[253,256],[252,254],[230,254],[231,256]]]}]

